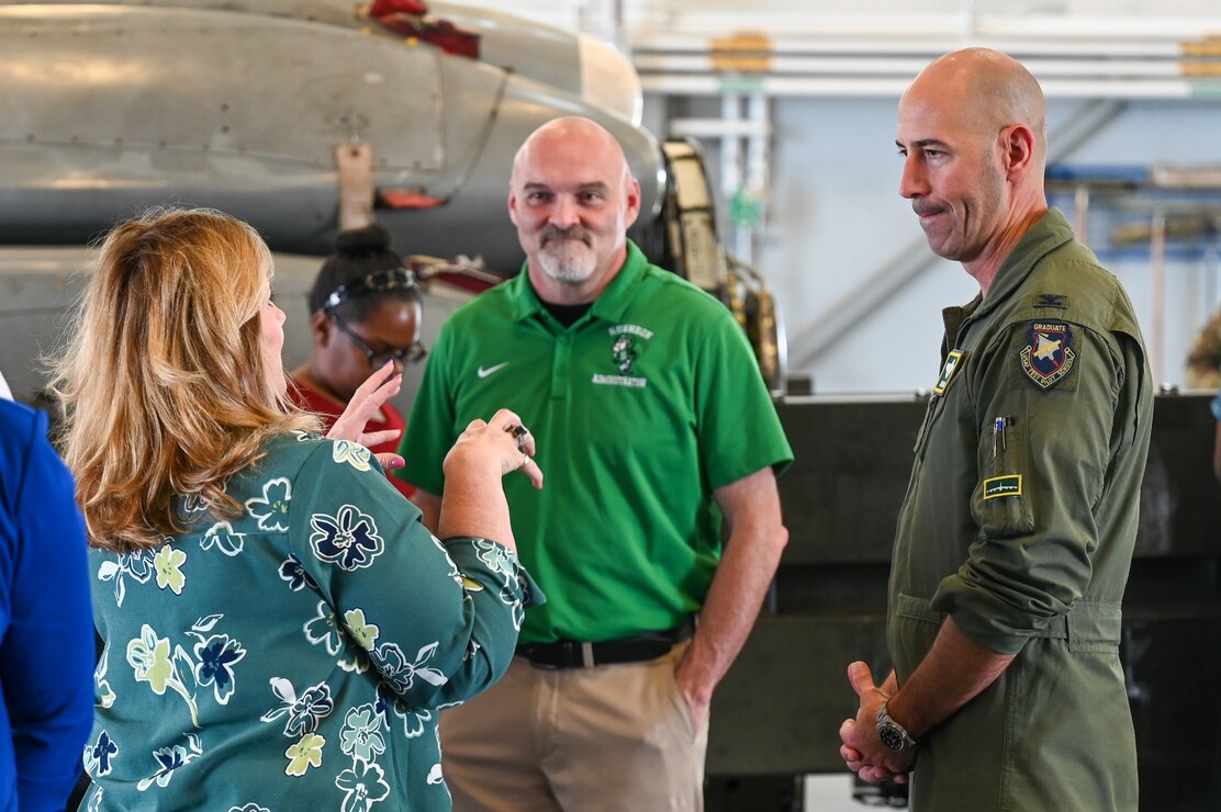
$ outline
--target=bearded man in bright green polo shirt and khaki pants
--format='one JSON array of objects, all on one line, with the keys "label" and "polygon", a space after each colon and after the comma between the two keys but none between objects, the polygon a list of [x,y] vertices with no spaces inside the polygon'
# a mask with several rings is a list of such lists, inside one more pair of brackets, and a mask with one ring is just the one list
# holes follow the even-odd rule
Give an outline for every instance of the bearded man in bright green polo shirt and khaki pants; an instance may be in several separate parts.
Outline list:
[{"label": "bearded man in bright green polo shirt and khaki pants", "polygon": [[446,780],[459,811],[700,810],[708,705],[788,541],[792,452],[729,310],[628,241],[640,186],[606,129],[541,127],[508,203],[525,266],[442,328],[403,476],[427,524],[453,438],[516,411],[547,481],[507,496],[548,600],[504,679],[442,714]]}]

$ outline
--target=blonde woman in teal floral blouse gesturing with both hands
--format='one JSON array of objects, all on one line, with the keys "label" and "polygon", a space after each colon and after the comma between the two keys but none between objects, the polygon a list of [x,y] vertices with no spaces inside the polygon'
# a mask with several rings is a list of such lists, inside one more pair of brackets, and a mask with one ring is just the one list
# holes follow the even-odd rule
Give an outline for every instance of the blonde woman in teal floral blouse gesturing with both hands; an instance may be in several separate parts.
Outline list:
[{"label": "blonde woman in teal floral blouse gesturing with both hands", "polygon": [[437,708],[499,678],[538,600],[501,487],[542,486],[516,415],[451,449],[433,537],[357,442],[400,376],[314,433],[271,276],[227,215],[121,223],[57,369],[106,643],[89,808],[447,810]]}]

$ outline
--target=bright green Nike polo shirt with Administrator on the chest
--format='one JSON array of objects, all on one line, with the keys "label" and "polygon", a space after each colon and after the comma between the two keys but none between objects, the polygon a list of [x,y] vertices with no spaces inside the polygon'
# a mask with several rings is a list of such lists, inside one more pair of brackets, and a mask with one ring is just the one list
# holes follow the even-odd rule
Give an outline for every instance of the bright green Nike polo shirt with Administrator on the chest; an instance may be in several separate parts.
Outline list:
[{"label": "bright green Nike polo shirt with Administrator on the chest", "polygon": [[792,459],[741,327],[717,299],[628,259],[563,327],[527,274],[454,313],[430,354],[402,476],[441,493],[462,430],[498,408],[534,432],[546,476],[505,477],[523,563],[547,593],[523,642],[612,640],[700,609],[720,559],[713,491]]}]

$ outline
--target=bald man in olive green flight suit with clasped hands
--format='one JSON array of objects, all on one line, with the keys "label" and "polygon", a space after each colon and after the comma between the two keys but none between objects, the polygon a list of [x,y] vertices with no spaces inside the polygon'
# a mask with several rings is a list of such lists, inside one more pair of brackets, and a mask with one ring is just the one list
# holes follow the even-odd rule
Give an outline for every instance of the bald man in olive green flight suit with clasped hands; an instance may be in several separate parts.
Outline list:
[{"label": "bald man in olive green flight suit with clasped hands", "polygon": [[[944,311],[890,576],[880,686],[840,729],[862,779],[923,810],[1136,810],[1120,601],[1153,418],[1118,282],[1043,189],[1046,107],[967,49],[899,104],[900,193],[980,294]],[[915,768],[915,772],[912,772]]]}]

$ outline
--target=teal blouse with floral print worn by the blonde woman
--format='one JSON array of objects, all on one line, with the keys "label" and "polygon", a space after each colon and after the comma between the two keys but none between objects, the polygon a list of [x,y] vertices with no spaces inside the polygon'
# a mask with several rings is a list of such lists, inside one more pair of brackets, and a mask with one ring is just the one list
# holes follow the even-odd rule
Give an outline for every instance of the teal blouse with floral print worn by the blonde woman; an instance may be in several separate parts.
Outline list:
[{"label": "teal blouse with floral print worn by the blonde woman", "polygon": [[90,552],[106,642],[88,810],[448,810],[437,709],[508,668],[516,556],[438,541],[361,446],[293,433],[228,486],[242,515]]}]

